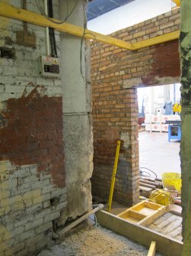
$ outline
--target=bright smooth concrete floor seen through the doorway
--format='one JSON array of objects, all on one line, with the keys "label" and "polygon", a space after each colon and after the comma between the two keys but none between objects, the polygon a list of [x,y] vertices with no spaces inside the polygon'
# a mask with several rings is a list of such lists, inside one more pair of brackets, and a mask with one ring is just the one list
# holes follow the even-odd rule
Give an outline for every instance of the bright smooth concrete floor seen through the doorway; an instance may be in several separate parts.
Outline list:
[{"label": "bright smooth concrete floor seen through the doorway", "polygon": [[168,142],[167,137],[166,132],[141,131],[138,134],[139,166],[153,170],[160,178],[166,172],[181,173],[180,141]]}]

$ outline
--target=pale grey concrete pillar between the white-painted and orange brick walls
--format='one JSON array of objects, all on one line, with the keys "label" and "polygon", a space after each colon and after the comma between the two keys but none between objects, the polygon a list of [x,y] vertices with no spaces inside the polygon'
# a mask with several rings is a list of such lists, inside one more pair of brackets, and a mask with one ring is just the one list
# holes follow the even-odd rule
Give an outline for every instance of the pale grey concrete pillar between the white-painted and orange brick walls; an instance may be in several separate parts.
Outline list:
[{"label": "pale grey concrete pillar between the white-painted and orange brick walls", "polygon": [[[75,4],[76,0],[59,1],[60,20],[71,12]],[[75,10],[66,22],[81,27],[86,26],[85,5],[86,1],[78,0]],[[90,178],[93,170],[93,140],[88,66],[90,66],[90,58],[87,44],[83,42],[81,47],[81,37],[62,33],[63,138],[68,207],[67,212],[62,212],[60,224],[64,224],[67,217],[75,218],[91,209]],[[84,77],[81,75],[81,70]]]}]

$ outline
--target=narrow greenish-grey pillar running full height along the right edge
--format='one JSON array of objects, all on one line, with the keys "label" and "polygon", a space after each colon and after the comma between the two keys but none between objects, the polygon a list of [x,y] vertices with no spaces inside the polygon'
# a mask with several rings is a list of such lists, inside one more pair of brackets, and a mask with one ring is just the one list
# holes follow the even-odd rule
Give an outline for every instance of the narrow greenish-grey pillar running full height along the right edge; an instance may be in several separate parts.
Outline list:
[{"label": "narrow greenish-grey pillar running full height along the right edge", "polygon": [[182,204],[183,204],[183,252],[191,255],[191,2],[181,1],[180,54],[182,63]]}]

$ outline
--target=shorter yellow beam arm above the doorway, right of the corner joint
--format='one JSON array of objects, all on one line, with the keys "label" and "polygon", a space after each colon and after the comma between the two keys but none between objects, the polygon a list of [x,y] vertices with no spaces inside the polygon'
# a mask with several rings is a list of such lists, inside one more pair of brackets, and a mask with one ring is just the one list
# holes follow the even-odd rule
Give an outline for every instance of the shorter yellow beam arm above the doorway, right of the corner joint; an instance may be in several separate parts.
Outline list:
[{"label": "shorter yellow beam arm above the doorway, right of the corner joint", "polygon": [[132,50],[138,50],[138,49],[149,47],[155,44],[162,44],[168,41],[178,39],[179,36],[180,36],[180,31],[174,31],[167,34],[163,34],[158,37],[153,37],[153,38],[132,44]]}]

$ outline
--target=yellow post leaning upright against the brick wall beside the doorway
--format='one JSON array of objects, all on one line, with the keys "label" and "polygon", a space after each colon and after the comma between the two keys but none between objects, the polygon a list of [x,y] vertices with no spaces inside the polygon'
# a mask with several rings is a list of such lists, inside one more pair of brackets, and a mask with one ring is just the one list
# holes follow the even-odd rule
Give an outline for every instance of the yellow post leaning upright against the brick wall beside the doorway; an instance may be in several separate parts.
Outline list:
[{"label": "yellow post leaning upright against the brick wall beside the doorway", "polygon": [[118,164],[118,160],[119,160],[120,146],[121,146],[121,141],[117,141],[116,157],[115,157],[115,162],[114,162],[114,166],[113,166],[113,174],[112,174],[112,180],[111,180],[111,186],[110,186],[110,196],[109,196],[109,200],[108,200],[108,212],[110,212],[111,203],[112,203],[112,199],[113,199],[113,190],[114,190],[115,181],[116,181],[116,169],[117,169],[117,164]]}]

